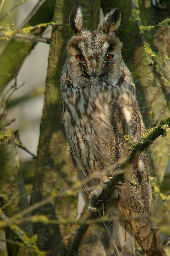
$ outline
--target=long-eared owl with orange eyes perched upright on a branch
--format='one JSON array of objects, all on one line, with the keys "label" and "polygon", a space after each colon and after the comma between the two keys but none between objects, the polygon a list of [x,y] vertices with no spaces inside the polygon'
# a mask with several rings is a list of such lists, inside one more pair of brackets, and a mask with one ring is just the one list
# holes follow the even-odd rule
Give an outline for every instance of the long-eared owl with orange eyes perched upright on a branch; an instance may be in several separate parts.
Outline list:
[{"label": "long-eared owl with orange eyes perched upright on a branch", "polygon": [[[139,142],[145,133],[133,78],[121,56],[122,43],[114,31],[120,12],[112,10],[97,31],[82,27],[81,6],[75,6],[69,25],[74,36],[67,45],[61,74],[61,99],[67,140],[89,211],[107,182],[130,153],[124,136]],[[142,152],[126,172],[140,185],[119,182],[106,200],[101,242],[108,256],[135,255],[135,241],[144,255],[165,255],[154,227],[148,156]],[[108,202],[109,201],[109,202]]]}]

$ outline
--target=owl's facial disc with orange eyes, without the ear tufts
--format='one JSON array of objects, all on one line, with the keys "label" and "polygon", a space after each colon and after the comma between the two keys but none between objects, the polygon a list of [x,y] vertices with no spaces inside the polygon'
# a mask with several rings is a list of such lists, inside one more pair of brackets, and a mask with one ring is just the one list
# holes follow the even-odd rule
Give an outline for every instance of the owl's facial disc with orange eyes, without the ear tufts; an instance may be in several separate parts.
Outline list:
[{"label": "owl's facial disc with orange eyes, without the ear tufts", "polygon": [[74,86],[84,86],[82,79],[84,83],[86,81],[94,86],[106,80],[116,84],[121,47],[122,44],[113,33],[105,35],[101,31],[83,30],[73,36],[67,46],[67,68]]}]

